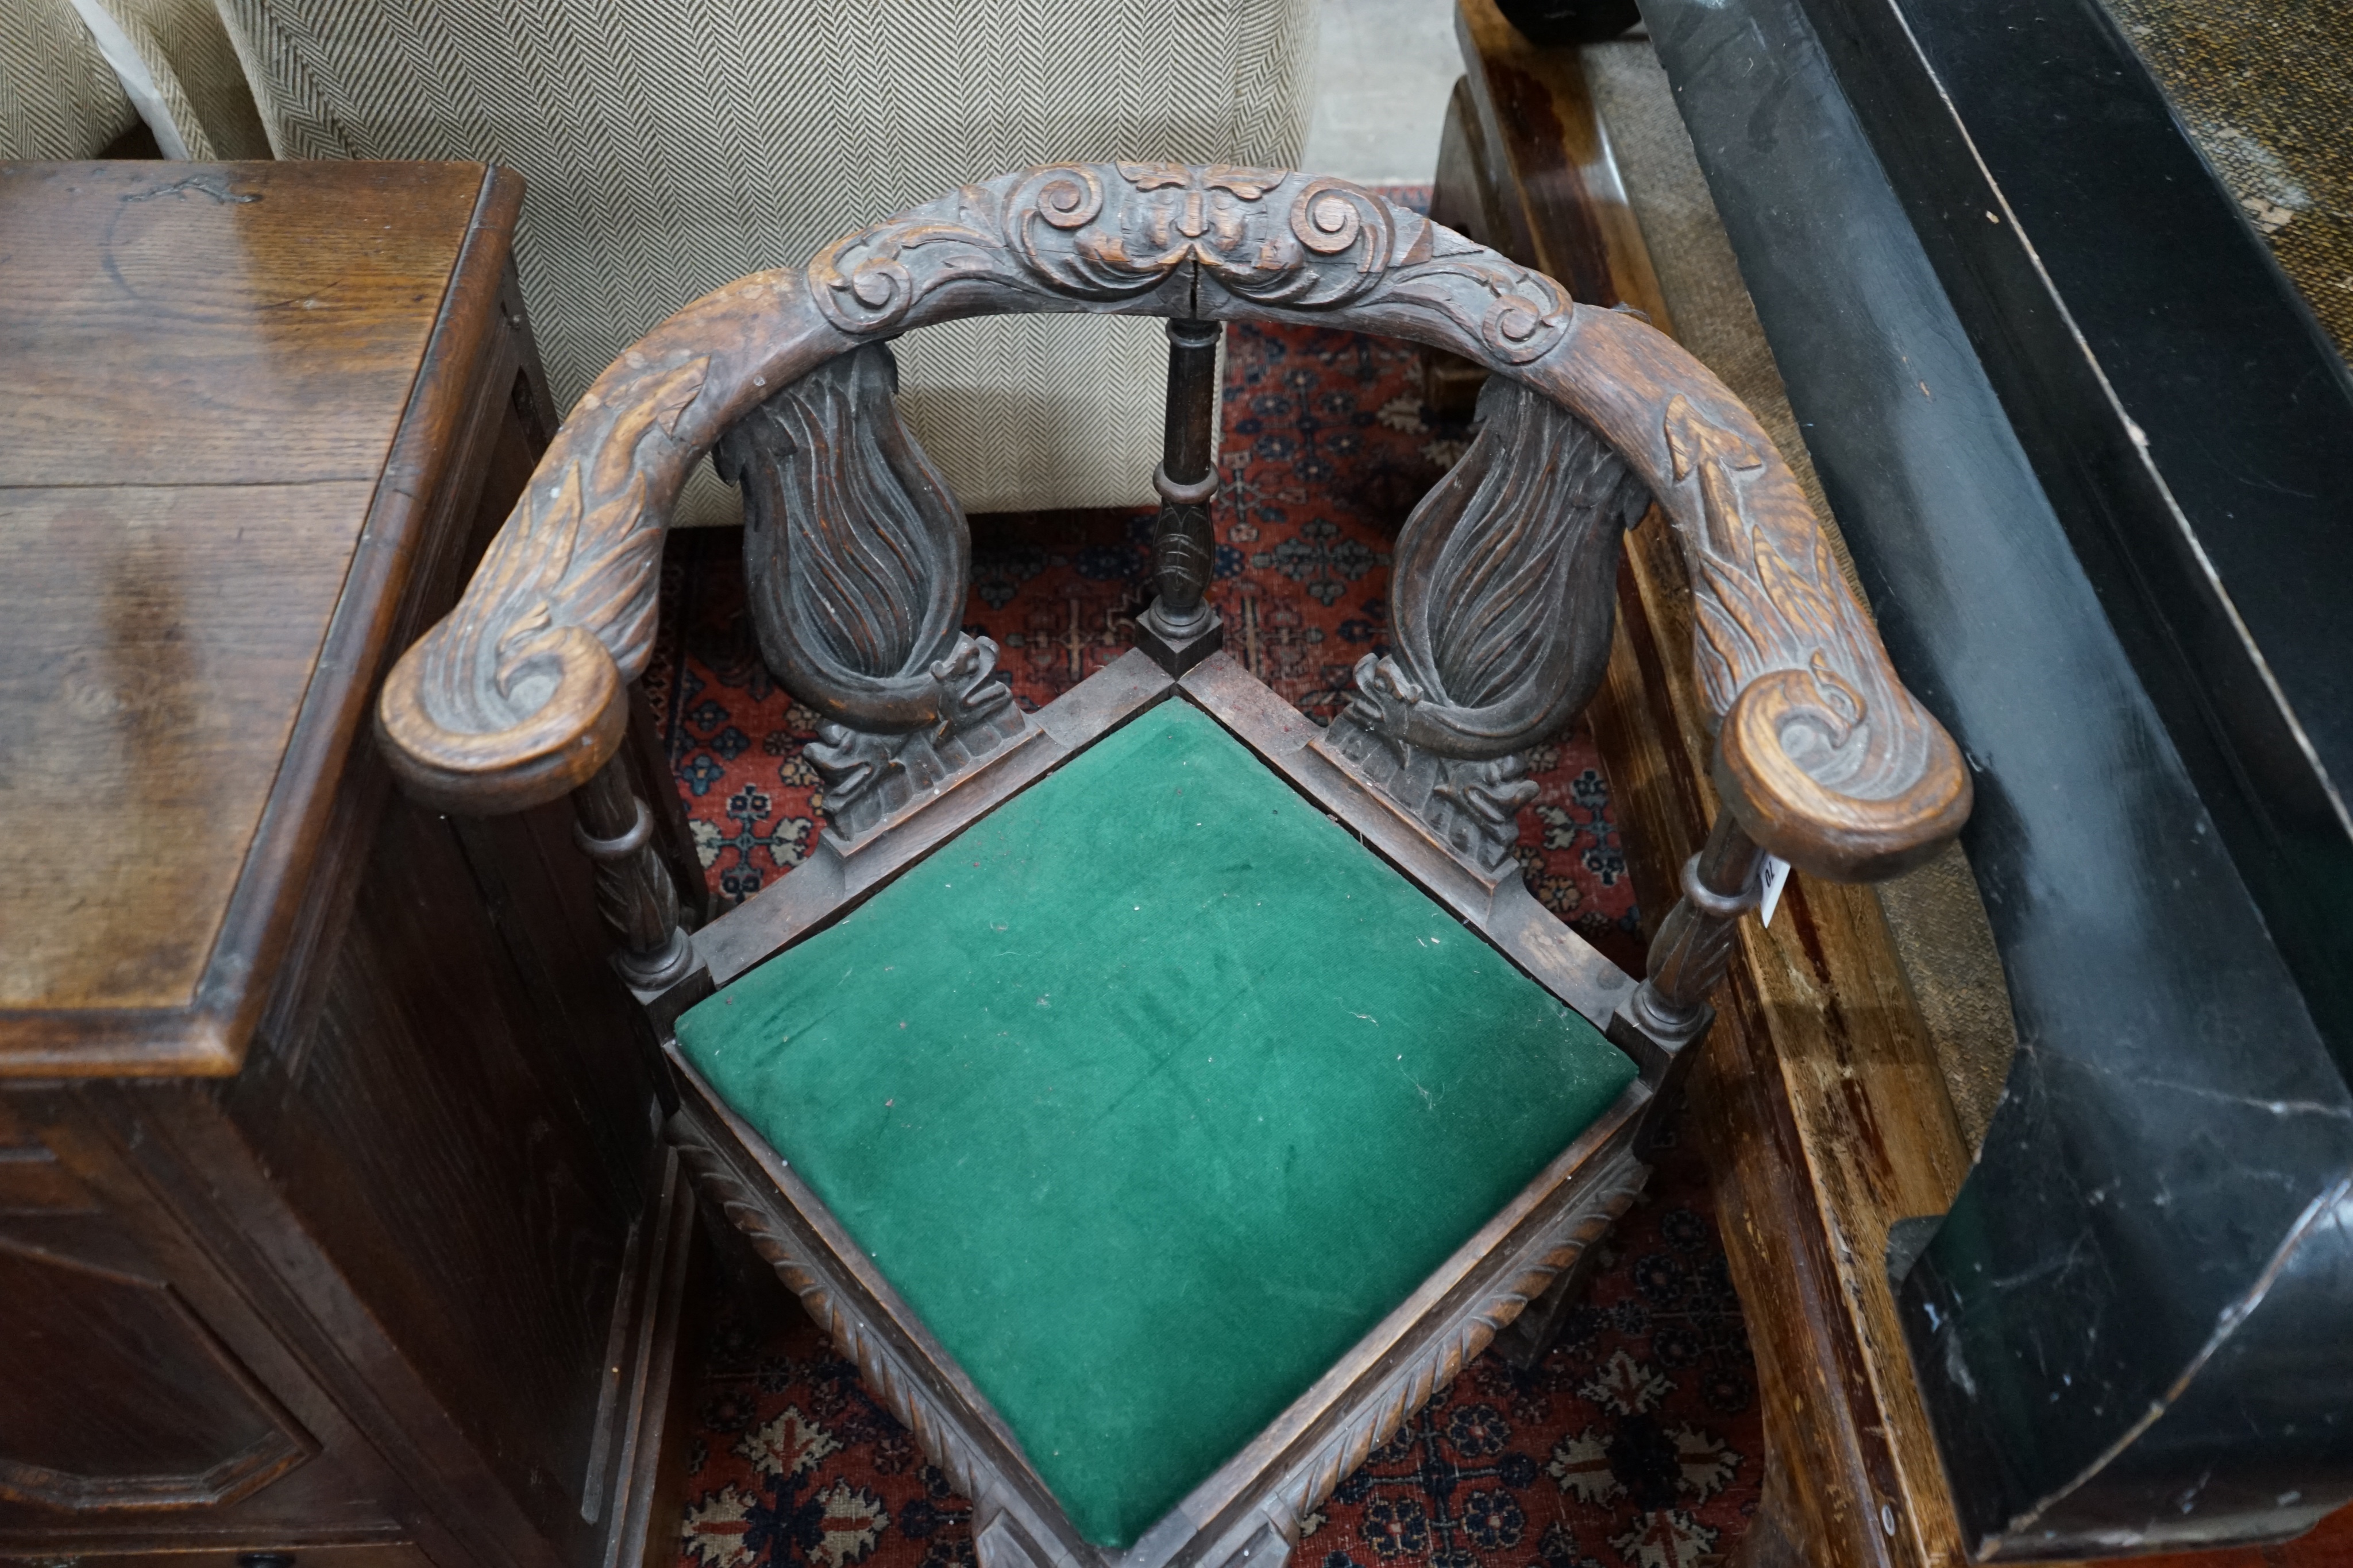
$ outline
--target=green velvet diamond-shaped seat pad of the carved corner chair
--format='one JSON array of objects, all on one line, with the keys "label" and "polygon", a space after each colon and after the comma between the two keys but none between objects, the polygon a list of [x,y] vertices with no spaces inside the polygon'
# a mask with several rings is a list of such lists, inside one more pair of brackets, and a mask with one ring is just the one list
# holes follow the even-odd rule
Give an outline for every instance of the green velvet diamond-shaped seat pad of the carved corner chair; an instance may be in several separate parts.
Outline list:
[{"label": "green velvet diamond-shaped seat pad of the carved corner chair", "polygon": [[678,1023],[1125,1547],[1633,1081],[1174,698]]}]

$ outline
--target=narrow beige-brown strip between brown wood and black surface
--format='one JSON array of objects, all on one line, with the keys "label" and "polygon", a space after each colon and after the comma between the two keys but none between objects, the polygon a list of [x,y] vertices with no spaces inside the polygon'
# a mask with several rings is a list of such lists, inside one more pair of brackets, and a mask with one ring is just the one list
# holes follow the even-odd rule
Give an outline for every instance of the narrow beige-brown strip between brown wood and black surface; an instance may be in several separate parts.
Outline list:
[{"label": "narrow beige-brown strip between brown wood and black surface", "polygon": [[[1659,268],[1675,336],[1755,411],[1814,503],[1857,597],[1864,597],[1659,56],[1640,40],[1586,45],[1584,66],[1626,179],[1626,202]],[[1951,844],[1908,877],[1882,882],[1878,896],[1953,1112],[1974,1150],[2002,1098],[2019,1032],[1969,860],[1960,844]]]}]

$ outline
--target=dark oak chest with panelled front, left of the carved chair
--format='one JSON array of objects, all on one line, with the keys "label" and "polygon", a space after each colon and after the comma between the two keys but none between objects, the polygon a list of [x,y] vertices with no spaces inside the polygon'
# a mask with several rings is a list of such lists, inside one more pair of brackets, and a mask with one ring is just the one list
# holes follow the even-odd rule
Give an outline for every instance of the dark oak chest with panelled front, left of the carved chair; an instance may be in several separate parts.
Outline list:
[{"label": "dark oak chest with panelled front, left of the carved chair", "polygon": [[[176,595],[115,621],[92,595],[85,625],[61,604],[42,623],[61,646],[106,651],[113,663],[94,668],[113,689],[169,693],[148,701],[172,724],[125,724],[153,743],[125,762],[132,788],[188,790],[226,745],[259,780],[242,839],[221,839],[235,853],[212,860],[228,865],[226,903],[158,896],[136,865],[80,875],[89,823],[115,823],[136,799],[85,799],[49,835],[68,903],[111,922],[118,945],[188,947],[202,971],[181,1006],[89,1004],[54,985],[0,1013],[0,1063],[14,1070],[0,1081],[0,1408],[42,1415],[33,1429],[0,1422],[0,1556],[640,1568],[675,1533],[675,1455],[661,1439],[675,1429],[694,1276],[685,1185],[654,1138],[654,1044],[605,959],[569,813],[438,818],[398,797],[360,726],[391,651],[447,611],[548,437],[508,256],[520,183],[480,165],[311,165],[292,183],[148,165],[158,195],[120,202],[127,176],[75,169],[35,195],[80,183],[89,202],[193,214],[193,249],[219,249],[207,226],[221,214],[268,212],[256,247],[278,247],[273,287],[325,299],[353,282],[376,299],[391,284],[365,266],[372,244],[405,259],[424,299],[407,306],[405,364],[369,367],[391,329],[353,331],[341,411],[376,421],[358,480],[271,480],[282,454],[264,444],[252,484],[0,484],[0,552],[49,541],[40,508],[64,505],[75,559],[111,562],[125,604]],[[205,195],[235,195],[238,181],[261,181],[266,200]],[[452,188],[464,202],[431,230],[435,275],[426,240],[402,226],[416,190]],[[16,219],[14,190],[0,181],[0,223]],[[172,207],[181,200],[202,205]],[[322,230],[304,252],[289,235],[306,226],[376,237]],[[104,273],[104,223],[61,233],[94,235],[96,252],[82,266],[52,249],[49,266]],[[169,247],[162,233],[141,244]],[[24,252],[7,266],[26,266]],[[162,287],[139,301],[148,331],[169,339],[179,320],[228,371],[259,353],[233,341],[221,280],[191,282],[181,315]],[[247,327],[271,353],[334,357],[271,320]],[[52,336],[106,334],[68,313]],[[118,357],[172,364],[184,350],[151,341]],[[320,397],[287,411],[308,430],[296,461],[358,449],[334,428],[339,383],[325,371],[287,374]],[[205,447],[228,463],[249,437],[249,393],[158,404],[132,456]],[[49,414],[71,414],[71,397],[54,388]],[[113,381],[87,390],[85,465],[104,465],[101,414],[120,397]],[[71,496],[52,503],[61,489]],[[320,515],[325,501],[339,508]],[[240,529],[259,534],[252,550]],[[5,658],[38,658],[19,651],[16,604],[33,588],[54,597],[54,583],[0,574]],[[249,609],[271,597],[282,625]],[[278,646],[273,635],[308,646],[282,668],[231,665]],[[266,712],[214,722],[226,738],[193,748],[186,712],[238,701]],[[16,773],[56,769],[54,724],[38,741],[12,750]],[[12,823],[9,837],[26,832]],[[148,870],[169,870],[169,849]],[[174,1507],[158,1509],[165,1500]]]}]

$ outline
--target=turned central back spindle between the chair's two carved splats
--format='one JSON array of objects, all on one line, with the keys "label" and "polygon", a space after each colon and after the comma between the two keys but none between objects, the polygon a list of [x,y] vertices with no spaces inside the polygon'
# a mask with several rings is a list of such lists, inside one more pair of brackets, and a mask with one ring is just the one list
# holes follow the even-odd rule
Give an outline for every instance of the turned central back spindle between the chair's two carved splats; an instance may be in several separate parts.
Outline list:
[{"label": "turned central back spindle between the chair's two carved splats", "polygon": [[1169,675],[1184,675],[1224,646],[1226,628],[1209,609],[1217,576],[1217,534],[1209,501],[1217,468],[1209,440],[1217,430],[1219,322],[1179,317],[1169,322],[1167,435],[1153,489],[1160,517],[1153,522],[1153,585],[1158,597],[1136,625],[1136,646]]}]

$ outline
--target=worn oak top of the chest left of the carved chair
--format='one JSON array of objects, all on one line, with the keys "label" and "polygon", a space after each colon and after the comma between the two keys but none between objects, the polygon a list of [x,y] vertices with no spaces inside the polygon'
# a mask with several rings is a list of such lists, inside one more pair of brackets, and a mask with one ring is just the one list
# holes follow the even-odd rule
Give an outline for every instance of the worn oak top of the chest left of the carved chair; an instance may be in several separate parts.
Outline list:
[{"label": "worn oak top of the chest left of the carved chair", "polygon": [[372,515],[492,183],[0,165],[0,1074],[242,1058],[379,658],[353,562],[400,548]]}]

